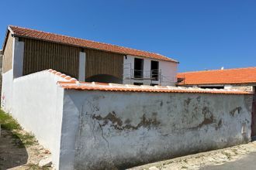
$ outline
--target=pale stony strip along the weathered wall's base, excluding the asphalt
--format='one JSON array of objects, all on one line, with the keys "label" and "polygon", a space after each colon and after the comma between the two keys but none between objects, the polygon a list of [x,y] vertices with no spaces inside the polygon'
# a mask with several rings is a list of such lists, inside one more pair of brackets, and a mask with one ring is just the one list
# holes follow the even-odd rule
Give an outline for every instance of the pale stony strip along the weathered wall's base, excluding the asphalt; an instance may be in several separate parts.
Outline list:
[{"label": "pale stony strip along the weathered wall's base, excluding the asphalt", "polygon": [[225,162],[234,162],[256,152],[256,141],[246,145],[238,145],[230,148],[224,148],[216,151],[202,152],[195,155],[169,159],[163,162],[155,162],[130,170],[158,170],[158,169],[200,169],[209,165],[221,165]]}]

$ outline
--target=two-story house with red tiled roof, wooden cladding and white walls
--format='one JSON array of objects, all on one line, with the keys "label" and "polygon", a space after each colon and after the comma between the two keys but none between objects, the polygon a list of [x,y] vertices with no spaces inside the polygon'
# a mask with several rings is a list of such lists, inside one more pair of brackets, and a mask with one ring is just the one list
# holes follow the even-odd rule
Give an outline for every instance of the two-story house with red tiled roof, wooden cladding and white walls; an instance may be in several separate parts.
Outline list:
[{"label": "two-story house with red tiled roof, wooden cladding and white walls", "polygon": [[15,78],[40,70],[88,82],[175,85],[178,65],[157,53],[18,26],[8,27],[2,53],[2,97],[9,98]]}]

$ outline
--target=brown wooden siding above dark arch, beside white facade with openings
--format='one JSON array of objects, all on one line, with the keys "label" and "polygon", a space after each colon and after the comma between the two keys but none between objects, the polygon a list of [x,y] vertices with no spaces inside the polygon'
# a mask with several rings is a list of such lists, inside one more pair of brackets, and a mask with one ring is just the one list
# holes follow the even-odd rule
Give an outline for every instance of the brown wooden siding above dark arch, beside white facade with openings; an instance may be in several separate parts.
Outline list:
[{"label": "brown wooden siding above dark arch, beside white facade with openings", "polygon": [[[123,80],[123,55],[95,49],[85,49],[85,79],[99,74],[115,76]],[[115,83],[115,82],[113,82]]]}]

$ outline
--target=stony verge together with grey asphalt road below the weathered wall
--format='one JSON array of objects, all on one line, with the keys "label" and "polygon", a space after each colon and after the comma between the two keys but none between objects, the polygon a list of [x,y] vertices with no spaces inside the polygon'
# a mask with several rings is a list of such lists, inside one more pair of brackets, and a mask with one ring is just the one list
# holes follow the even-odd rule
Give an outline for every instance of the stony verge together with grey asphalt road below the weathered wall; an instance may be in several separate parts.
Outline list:
[{"label": "stony verge together with grey asphalt road below the weathered wall", "polygon": [[215,151],[202,152],[180,158],[169,159],[163,162],[155,162],[131,170],[159,170],[159,169],[199,169],[199,170],[251,170],[256,165],[256,141],[246,145],[238,145]]}]

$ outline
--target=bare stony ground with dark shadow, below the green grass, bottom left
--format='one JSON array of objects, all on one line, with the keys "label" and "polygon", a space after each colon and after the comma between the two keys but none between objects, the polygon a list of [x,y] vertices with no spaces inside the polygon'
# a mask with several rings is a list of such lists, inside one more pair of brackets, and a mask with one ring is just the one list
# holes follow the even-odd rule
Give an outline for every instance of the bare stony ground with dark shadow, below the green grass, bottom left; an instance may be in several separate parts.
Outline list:
[{"label": "bare stony ground with dark shadow, below the green grass, bottom left", "polygon": [[40,168],[41,159],[50,156],[50,151],[34,141],[24,144],[12,131],[1,131],[0,137],[0,169],[52,169]]}]

